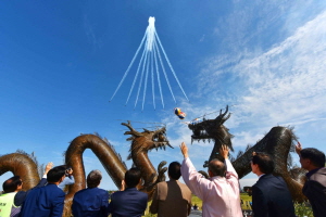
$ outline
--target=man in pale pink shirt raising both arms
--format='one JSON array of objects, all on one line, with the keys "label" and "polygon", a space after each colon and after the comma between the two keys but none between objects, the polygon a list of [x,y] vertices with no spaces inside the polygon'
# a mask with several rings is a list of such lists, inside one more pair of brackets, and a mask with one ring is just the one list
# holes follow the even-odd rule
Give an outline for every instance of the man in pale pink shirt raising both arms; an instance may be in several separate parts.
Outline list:
[{"label": "man in pale pink shirt raising both arms", "polygon": [[188,156],[185,142],[180,145],[185,157],[181,165],[183,179],[203,202],[203,217],[242,217],[238,174],[228,159],[228,148],[222,145],[220,154],[225,163],[212,159],[209,164],[210,179],[199,174]]}]

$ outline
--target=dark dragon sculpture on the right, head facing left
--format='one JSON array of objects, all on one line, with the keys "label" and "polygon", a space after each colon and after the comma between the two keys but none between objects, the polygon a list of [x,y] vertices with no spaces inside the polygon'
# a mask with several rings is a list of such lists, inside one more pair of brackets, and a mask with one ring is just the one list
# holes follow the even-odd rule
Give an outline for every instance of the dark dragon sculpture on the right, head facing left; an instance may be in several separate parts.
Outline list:
[{"label": "dark dragon sculpture on the right, head facing left", "polygon": [[[204,162],[204,167],[206,167],[208,162],[213,158],[222,157],[218,154],[218,150],[222,144],[226,144],[231,151],[231,138],[233,135],[228,132],[228,129],[223,125],[230,117],[228,113],[228,106],[224,113],[222,110],[220,115],[215,119],[203,119],[199,123],[189,124],[188,127],[192,130],[191,142],[208,140],[214,142],[212,153],[209,161]],[[298,202],[304,201],[304,195],[302,194],[302,183],[298,180],[298,176],[302,171],[292,170],[288,168],[288,157],[290,157],[289,152],[293,149],[293,141],[297,140],[293,131],[286,127],[273,127],[271,131],[253,146],[248,146],[244,153],[240,153],[233,165],[238,173],[239,179],[248,175],[251,171],[250,161],[253,152],[265,152],[274,157],[275,164],[275,175],[281,176],[291,192],[292,199]],[[296,175],[296,176],[293,176]]]}]

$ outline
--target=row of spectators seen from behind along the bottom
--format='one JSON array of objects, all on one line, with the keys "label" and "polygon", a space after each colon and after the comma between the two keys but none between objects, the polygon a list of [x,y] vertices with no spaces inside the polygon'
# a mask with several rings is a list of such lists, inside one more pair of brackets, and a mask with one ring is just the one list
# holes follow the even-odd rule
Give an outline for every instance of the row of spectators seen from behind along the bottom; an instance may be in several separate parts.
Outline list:
[{"label": "row of spectators seen from behind along the bottom", "polygon": [[[170,180],[156,184],[149,210],[158,217],[187,217],[191,210],[191,194],[202,200],[203,217],[242,217],[238,175],[228,159],[228,148],[220,150],[224,162],[209,163],[206,179],[192,165],[188,148],[180,145],[183,163],[168,166]],[[302,192],[310,201],[315,217],[326,216],[325,154],[316,149],[296,145],[300,164],[308,170]],[[274,162],[265,153],[252,153],[252,173],[259,176],[252,187],[252,210],[255,217],[296,217],[290,191],[281,177],[274,176]],[[22,191],[21,177],[3,182],[0,195],[0,217],[61,217],[65,184],[73,184],[73,170],[65,166],[46,166],[40,182],[28,191]],[[183,177],[185,183],[179,182]],[[121,191],[109,194],[100,189],[102,175],[92,170],[87,176],[87,189],[75,193],[72,203],[74,217],[140,217],[148,204],[148,194],[138,191],[141,171],[130,168],[125,173]],[[111,200],[110,200],[111,197]]]}]

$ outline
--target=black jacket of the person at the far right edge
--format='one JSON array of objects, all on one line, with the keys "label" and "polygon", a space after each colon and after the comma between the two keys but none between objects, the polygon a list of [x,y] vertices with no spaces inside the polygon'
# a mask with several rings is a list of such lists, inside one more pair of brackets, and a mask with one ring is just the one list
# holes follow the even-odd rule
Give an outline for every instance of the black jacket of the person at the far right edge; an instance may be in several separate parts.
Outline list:
[{"label": "black jacket of the person at the far right edge", "polygon": [[326,216],[326,168],[317,169],[308,177],[302,193],[309,199],[315,217]]}]

